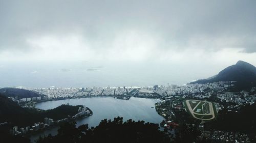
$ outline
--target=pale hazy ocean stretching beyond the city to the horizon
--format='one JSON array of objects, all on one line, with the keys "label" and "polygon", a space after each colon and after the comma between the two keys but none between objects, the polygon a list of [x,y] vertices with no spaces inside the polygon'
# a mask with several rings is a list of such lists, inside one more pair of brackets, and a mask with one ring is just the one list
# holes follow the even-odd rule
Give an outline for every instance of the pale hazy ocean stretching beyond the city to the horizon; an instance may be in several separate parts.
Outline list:
[{"label": "pale hazy ocean stretching beyond the city to the horizon", "polygon": [[202,69],[193,65],[164,62],[20,62],[0,65],[0,88],[182,85],[217,74],[217,71],[207,67]]}]

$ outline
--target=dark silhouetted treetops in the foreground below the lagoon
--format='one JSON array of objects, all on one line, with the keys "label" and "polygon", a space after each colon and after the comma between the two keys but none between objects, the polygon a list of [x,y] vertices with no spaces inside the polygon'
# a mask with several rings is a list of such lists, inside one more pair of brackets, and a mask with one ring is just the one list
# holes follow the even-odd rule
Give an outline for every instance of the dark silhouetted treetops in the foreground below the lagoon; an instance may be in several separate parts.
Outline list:
[{"label": "dark silhouetted treetops in the foreground below the lagoon", "polygon": [[166,133],[159,130],[158,124],[145,123],[144,121],[128,120],[123,122],[123,118],[117,117],[114,121],[102,120],[99,126],[88,128],[82,125],[78,128],[75,123],[63,124],[56,136],[48,135],[39,138],[37,143],[70,143],[70,142],[170,142]]}]

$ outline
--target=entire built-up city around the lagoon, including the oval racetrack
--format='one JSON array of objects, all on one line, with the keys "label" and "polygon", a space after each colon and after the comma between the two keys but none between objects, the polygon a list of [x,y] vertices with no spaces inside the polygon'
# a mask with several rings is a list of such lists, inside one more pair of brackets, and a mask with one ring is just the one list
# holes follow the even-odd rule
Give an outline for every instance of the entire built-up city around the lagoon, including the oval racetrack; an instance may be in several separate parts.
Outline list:
[{"label": "entire built-up city around the lagoon, including the oval racetrack", "polygon": [[[153,87],[88,87],[88,88],[36,88],[26,89],[33,91],[39,97],[20,98],[9,97],[25,108],[34,108],[34,103],[61,100],[70,98],[90,98],[90,97],[114,97],[129,100],[131,96],[142,98],[158,98],[156,110],[164,117],[160,125],[174,134],[181,124],[186,124],[188,128],[197,128],[201,135],[197,139],[208,138],[217,142],[250,142],[246,133],[227,132],[221,130],[209,130],[205,128],[205,122],[213,120],[218,116],[220,110],[228,112],[239,112],[242,107],[252,105],[256,101],[256,88],[249,91],[230,92],[234,87],[233,81],[213,82],[206,84],[185,84],[185,85],[154,85]],[[77,119],[90,114],[87,108],[79,108],[78,113],[72,117],[67,117],[58,121],[45,118],[44,123],[34,123],[27,127],[13,127],[11,134],[22,135],[41,129],[47,129],[62,122]],[[191,121],[201,120],[200,124]]]}]

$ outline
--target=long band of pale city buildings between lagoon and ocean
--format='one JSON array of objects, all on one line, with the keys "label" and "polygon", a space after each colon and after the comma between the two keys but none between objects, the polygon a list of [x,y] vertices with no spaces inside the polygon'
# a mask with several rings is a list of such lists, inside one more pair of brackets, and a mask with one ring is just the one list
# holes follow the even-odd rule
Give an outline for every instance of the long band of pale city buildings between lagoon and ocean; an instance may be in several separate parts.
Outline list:
[{"label": "long band of pale city buildings between lagoon and ocean", "polygon": [[233,103],[229,106],[251,105],[256,101],[256,88],[250,91],[241,91],[239,93],[227,92],[227,89],[233,87],[233,82],[214,82],[207,84],[185,84],[185,85],[166,85],[154,87],[93,87],[93,88],[36,88],[27,89],[34,91],[42,96],[31,98],[9,97],[18,103],[38,102],[42,100],[57,100],[65,98],[81,97],[113,97],[113,96],[140,96],[140,97],[175,97],[206,99],[215,95],[220,101]]}]

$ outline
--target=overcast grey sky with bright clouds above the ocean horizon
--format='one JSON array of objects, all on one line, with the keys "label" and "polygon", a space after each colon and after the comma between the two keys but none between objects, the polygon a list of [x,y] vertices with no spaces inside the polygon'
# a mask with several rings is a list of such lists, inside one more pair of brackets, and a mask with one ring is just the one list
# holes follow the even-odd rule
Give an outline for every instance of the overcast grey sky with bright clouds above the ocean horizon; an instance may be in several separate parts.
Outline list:
[{"label": "overcast grey sky with bright clouds above the ocean horizon", "polygon": [[165,63],[211,67],[205,78],[239,60],[256,65],[255,23],[256,1],[0,0],[0,69]]}]

